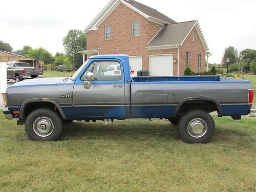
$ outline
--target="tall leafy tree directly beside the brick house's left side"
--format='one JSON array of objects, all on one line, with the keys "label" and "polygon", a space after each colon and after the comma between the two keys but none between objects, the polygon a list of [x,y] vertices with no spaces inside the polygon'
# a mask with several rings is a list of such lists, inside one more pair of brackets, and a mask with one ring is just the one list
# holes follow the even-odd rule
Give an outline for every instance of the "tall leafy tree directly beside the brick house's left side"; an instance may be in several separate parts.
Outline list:
[{"label": "tall leafy tree directly beside the brick house's left side", "polygon": [[73,60],[73,68],[82,64],[82,55],[78,52],[86,49],[86,35],[80,30],[69,30],[66,37],[63,38],[63,46],[67,55]]}]

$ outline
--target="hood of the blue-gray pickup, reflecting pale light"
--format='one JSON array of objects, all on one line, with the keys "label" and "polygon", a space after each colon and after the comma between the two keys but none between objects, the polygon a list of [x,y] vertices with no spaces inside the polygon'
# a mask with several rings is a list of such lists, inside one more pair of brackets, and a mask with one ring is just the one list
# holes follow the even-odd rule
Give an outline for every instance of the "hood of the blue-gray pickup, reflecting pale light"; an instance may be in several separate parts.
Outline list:
[{"label": "hood of the blue-gray pickup, reflecting pale light", "polygon": [[[13,86],[40,86],[47,84],[66,84],[66,83],[74,83],[73,80],[67,79],[67,77],[53,77],[53,78],[35,78],[35,79],[26,79],[23,81],[19,81],[13,84]],[[12,86],[11,86],[12,87]]]}]

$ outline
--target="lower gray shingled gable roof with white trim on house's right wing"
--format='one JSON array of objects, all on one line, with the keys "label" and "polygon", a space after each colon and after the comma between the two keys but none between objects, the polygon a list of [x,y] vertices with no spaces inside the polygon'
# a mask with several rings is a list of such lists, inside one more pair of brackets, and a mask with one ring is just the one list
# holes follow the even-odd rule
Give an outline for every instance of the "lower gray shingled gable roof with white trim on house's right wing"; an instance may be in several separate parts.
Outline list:
[{"label": "lower gray shingled gable roof with white trim on house's right wing", "polygon": [[199,38],[205,51],[209,51],[209,48],[204,39],[201,28],[197,20],[190,22],[174,23],[165,25],[147,44],[148,49],[160,49],[170,47],[182,46],[189,33],[196,27]]}]

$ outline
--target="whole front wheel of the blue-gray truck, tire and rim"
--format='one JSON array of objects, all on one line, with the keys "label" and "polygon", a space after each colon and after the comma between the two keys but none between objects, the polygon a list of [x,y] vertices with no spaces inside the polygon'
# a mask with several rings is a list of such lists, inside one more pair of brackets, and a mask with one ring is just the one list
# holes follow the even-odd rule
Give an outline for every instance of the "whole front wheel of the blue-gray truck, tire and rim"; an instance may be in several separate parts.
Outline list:
[{"label": "whole front wheel of the blue-gray truck, tire and rim", "polygon": [[63,127],[62,118],[48,108],[39,108],[31,112],[25,122],[25,131],[34,141],[55,141]]}]

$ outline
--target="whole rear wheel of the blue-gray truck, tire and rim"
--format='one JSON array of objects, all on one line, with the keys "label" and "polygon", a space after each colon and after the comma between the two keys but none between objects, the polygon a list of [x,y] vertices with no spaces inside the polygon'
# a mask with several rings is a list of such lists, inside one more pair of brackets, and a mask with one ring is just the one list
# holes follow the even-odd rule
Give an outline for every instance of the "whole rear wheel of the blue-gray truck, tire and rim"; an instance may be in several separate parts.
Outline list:
[{"label": "whole rear wheel of the blue-gray truck, tire and rim", "polygon": [[215,130],[212,117],[203,110],[191,110],[181,116],[179,134],[187,143],[206,143]]}]

